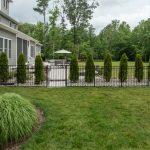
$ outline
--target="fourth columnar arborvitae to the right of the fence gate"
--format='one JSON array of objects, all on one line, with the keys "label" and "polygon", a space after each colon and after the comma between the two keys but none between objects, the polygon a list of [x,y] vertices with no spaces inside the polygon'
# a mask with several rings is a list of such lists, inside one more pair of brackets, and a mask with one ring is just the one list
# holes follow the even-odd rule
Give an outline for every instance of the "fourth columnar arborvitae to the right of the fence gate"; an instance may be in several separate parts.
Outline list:
[{"label": "fourth columnar arborvitae to the right of the fence gate", "polygon": [[119,68],[119,79],[121,82],[127,81],[128,75],[128,57],[126,54],[123,54],[120,60],[120,68]]}]

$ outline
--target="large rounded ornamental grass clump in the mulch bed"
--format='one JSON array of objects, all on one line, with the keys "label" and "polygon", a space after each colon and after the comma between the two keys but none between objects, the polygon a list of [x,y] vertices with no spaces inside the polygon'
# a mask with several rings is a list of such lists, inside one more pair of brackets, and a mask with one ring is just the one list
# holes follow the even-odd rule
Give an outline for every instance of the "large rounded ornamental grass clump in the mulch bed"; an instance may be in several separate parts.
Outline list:
[{"label": "large rounded ornamental grass clump in the mulch bed", "polygon": [[21,96],[0,96],[0,148],[30,135],[37,124],[35,107]]}]

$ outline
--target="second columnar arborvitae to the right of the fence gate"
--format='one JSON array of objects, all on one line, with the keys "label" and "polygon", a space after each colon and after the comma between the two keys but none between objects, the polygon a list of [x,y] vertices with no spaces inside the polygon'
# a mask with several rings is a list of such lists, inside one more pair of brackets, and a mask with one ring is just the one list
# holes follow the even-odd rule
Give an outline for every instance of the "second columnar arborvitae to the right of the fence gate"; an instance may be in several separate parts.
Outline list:
[{"label": "second columnar arborvitae to the right of the fence gate", "polygon": [[95,66],[93,57],[91,54],[88,54],[85,66],[85,82],[93,82],[95,78]]}]

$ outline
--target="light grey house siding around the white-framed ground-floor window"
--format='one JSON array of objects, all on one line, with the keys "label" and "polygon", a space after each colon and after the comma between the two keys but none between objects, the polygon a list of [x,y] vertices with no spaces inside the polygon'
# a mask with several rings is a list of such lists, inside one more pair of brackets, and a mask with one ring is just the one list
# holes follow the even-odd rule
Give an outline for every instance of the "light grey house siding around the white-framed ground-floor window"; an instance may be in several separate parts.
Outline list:
[{"label": "light grey house siding around the white-framed ground-floor window", "polygon": [[9,65],[16,65],[17,64],[16,34],[10,33],[7,30],[0,28],[0,37],[11,40],[11,58],[9,58]]}]

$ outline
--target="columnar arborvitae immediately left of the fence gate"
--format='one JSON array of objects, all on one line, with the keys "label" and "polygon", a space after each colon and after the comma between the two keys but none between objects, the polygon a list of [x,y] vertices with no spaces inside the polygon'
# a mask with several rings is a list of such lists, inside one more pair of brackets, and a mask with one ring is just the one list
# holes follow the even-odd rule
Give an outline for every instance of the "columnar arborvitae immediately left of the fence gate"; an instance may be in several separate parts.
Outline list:
[{"label": "columnar arborvitae immediately left of the fence gate", "polygon": [[40,84],[44,81],[44,66],[40,55],[35,59],[35,84]]}]

